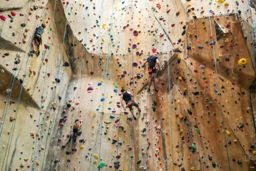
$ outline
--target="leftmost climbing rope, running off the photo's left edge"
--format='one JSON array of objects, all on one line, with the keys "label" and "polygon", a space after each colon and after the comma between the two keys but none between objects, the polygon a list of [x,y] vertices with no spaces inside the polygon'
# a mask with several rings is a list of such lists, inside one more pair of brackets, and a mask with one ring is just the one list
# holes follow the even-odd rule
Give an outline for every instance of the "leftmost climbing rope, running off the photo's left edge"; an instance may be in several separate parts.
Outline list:
[{"label": "leftmost climbing rope, running off the photo's left edge", "polygon": [[[29,3],[30,3],[30,7],[29,7]],[[32,1],[30,1],[28,3],[28,6],[27,6],[27,9],[26,9],[26,11],[28,11],[30,8],[31,8],[31,5],[32,5]],[[27,16],[27,14],[29,14],[29,12],[27,12],[26,14],[25,14],[25,17],[24,17],[24,22],[23,23],[25,23],[25,21],[26,21],[26,26],[25,27],[22,27],[22,34],[20,35],[20,39],[19,39],[19,42],[21,42],[21,39],[22,39],[22,35],[24,35],[23,34],[23,31],[24,30],[26,30],[26,27],[27,27],[27,23],[28,23],[28,16]],[[27,19],[27,20],[26,20]],[[17,54],[16,54],[16,57],[18,56],[18,55],[20,55],[20,53],[21,53],[21,50],[22,50],[22,45],[23,45],[23,43],[19,43],[19,46],[18,46],[18,50],[17,50]],[[19,53],[19,54],[18,54]],[[18,66],[18,63],[16,64],[16,63],[14,63],[14,66],[13,66],[13,68],[15,68],[15,66]],[[16,75],[16,72],[17,72],[17,70],[13,70],[13,72],[12,72],[12,74],[11,74],[11,80],[10,80],[10,84],[9,84],[9,90],[11,90],[8,94],[7,94],[7,96],[6,96],[6,103],[4,104],[4,108],[3,108],[3,114],[2,114],[2,119],[3,119],[3,121],[1,122],[1,124],[0,124],[0,128],[1,128],[1,132],[0,132],[0,139],[1,139],[1,135],[2,135],[2,131],[3,131],[3,125],[4,125],[4,121],[5,121],[5,118],[6,118],[6,113],[7,113],[7,109],[8,109],[8,105],[9,105],[9,102],[10,102],[10,98],[11,98],[11,94],[12,94],[12,90],[13,90],[13,85],[14,85],[14,81],[15,81],[15,75]],[[14,74],[13,74],[14,73]],[[3,116],[4,115],[4,116]]]}]

